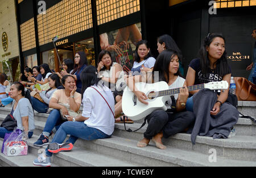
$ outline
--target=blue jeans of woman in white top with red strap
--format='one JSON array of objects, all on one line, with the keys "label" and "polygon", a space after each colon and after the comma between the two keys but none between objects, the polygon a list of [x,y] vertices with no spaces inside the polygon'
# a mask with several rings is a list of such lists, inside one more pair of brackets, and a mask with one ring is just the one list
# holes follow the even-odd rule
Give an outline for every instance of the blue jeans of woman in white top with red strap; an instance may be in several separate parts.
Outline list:
[{"label": "blue jeans of woman in white top with red strap", "polygon": [[[67,121],[63,123],[57,130],[52,142],[63,143],[67,135],[71,135],[67,142],[74,144],[77,138],[84,140],[95,140],[102,138],[109,138],[111,135],[107,135],[102,131],[93,127],[88,127],[84,122],[72,122]],[[52,156],[52,153],[46,149],[46,156]]]}]

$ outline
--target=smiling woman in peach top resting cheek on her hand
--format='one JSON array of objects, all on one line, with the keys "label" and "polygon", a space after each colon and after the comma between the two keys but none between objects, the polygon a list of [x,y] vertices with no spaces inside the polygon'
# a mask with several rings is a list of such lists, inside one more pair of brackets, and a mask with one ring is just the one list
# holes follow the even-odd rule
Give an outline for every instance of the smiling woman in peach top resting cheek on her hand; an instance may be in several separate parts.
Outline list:
[{"label": "smiling woman in peach top resting cheek on her hand", "polygon": [[61,119],[60,109],[63,115],[69,115],[68,110],[64,105],[68,105],[69,108],[75,112],[80,108],[81,94],[76,92],[75,78],[71,75],[66,75],[62,77],[61,82],[65,89],[56,90],[52,94],[49,107],[53,108],[53,110],[47,118],[43,133],[34,143],[34,146],[49,144],[48,137],[51,134],[52,129],[54,127],[56,130],[59,129],[60,125],[65,122]]}]

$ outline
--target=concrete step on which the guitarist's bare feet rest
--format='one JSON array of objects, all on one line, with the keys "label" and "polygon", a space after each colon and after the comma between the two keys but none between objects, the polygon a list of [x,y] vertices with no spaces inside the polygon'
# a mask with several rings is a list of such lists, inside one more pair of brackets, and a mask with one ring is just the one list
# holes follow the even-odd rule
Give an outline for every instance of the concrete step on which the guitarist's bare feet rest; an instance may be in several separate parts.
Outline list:
[{"label": "concrete step on which the guitarist's bare feet rest", "polygon": [[256,162],[230,160],[217,156],[217,162],[209,162],[209,155],[195,151],[181,150],[167,146],[160,150],[150,143],[147,147],[137,147],[137,140],[112,136],[108,139],[93,141],[77,140],[79,146],[95,150],[129,162],[146,164],[147,166],[255,166]]}]

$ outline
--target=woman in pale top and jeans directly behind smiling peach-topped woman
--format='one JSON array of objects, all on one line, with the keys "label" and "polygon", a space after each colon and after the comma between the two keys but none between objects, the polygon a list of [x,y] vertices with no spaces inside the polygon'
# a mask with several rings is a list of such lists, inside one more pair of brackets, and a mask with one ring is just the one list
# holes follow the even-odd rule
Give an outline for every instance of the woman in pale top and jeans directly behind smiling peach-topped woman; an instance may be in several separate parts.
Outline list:
[{"label": "woman in pale top and jeans directly behind smiling peach-topped woman", "polygon": [[49,101],[52,98],[52,94],[57,90],[61,85],[60,77],[56,73],[52,73],[48,77],[49,80],[49,89],[47,91],[42,91],[36,89],[39,92],[40,97],[44,102],[39,101],[38,99],[31,97],[33,108],[38,111],[38,113],[47,113],[49,107]]}]

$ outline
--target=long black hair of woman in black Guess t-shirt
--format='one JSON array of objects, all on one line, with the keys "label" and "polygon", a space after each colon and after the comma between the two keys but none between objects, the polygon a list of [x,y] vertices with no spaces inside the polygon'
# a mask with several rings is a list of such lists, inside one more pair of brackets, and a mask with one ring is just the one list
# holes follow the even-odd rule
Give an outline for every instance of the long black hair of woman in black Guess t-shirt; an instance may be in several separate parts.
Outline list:
[{"label": "long black hair of woman in black Guess t-shirt", "polygon": [[[204,45],[200,48],[199,54],[200,54],[200,65],[202,72],[204,74],[210,73],[210,60],[208,57],[208,51],[207,47],[210,46],[210,43],[212,43],[214,38],[222,38],[225,42],[225,38],[222,34],[208,34],[205,39],[204,39]],[[220,59],[217,60],[216,62],[216,73],[219,76],[223,76],[224,74],[230,73],[230,68],[228,65],[228,60],[226,58],[226,50],[224,51],[223,55],[221,56]]]}]

